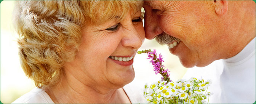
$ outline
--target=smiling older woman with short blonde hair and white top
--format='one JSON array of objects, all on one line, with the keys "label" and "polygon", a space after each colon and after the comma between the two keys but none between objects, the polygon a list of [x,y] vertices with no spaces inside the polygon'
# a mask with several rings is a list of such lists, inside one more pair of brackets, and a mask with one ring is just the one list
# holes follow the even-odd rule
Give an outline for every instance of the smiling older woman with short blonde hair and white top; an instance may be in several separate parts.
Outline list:
[{"label": "smiling older woman with short blonde hair and white top", "polygon": [[21,66],[37,88],[13,103],[139,103],[127,84],[145,38],[142,3],[16,2]]}]

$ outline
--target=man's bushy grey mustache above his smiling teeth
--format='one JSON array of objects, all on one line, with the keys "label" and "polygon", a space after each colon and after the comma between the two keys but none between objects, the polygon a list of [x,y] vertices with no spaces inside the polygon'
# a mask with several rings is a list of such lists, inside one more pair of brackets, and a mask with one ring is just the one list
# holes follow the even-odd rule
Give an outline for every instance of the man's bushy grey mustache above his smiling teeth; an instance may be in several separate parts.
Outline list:
[{"label": "man's bushy grey mustache above his smiling teeth", "polygon": [[173,37],[171,35],[166,34],[165,32],[163,32],[160,35],[157,35],[157,37],[155,37],[155,40],[157,40],[157,42],[160,45],[169,44],[169,43],[171,43],[173,41],[177,41],[179,43],[181,41],[181,40],[179,40],[176,37]]}]

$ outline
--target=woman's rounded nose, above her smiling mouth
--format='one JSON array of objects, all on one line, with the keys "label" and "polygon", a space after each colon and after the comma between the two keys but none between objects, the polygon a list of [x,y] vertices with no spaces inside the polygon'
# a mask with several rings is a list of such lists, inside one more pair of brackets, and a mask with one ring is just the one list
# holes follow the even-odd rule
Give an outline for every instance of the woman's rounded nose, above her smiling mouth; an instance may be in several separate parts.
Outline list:
[{"label": "woman's rounded nose, above her smiling mouth", "polygon": [[124,37],[122,38],[122,45],[125,47],[133,47],[138,49],[141,47],[145,39],[145,31],[143,26],[126,28],[126,32],[123,33]]}]

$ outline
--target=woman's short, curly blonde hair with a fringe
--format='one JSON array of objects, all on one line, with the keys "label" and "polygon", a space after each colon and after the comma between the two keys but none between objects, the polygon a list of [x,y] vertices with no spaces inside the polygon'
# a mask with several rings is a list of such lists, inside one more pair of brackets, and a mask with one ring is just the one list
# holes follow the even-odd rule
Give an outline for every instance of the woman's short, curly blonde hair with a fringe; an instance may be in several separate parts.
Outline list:
[{"label": "woman's short, curly blonde hair with a fringe", "polygon": [[[56,85],[65,62],[72,61],[86,25],[99,25],[133,10],[143,1],[16,1],[14,26],[27,77],[39,88]],[[132,9],[131,9],[132,8]]]}]

